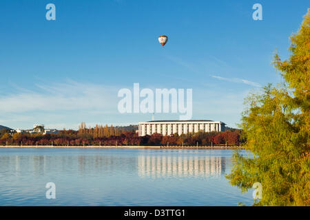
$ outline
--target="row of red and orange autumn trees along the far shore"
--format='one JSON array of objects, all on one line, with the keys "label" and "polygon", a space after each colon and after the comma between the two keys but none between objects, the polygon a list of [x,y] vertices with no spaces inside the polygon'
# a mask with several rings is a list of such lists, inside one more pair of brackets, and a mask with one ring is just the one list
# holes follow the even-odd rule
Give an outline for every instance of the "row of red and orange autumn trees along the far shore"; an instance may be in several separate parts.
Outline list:
[{"label": "row of red and orange autumn trees along the far shore", "polygon": [[211,146],[212,144],[240,144],[240,130],[224,132],[203,132],[189,134],[161,135],[154,133],[139,137],[136,131],[124,131],[114,126],[87,128],[81,123],[78,131],[63,130],[59,133],[0,133],[0,145],[53,145],[53,146]]}]

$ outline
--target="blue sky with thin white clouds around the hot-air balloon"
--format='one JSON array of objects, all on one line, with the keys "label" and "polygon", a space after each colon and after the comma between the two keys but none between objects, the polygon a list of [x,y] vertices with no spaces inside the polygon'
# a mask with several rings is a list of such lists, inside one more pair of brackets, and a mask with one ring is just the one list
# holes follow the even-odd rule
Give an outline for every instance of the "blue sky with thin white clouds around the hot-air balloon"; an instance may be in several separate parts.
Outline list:
[{"label": "blue sky with thin white clouds around the hot-air balloon", "polygon": [[[56,5],[56,21],[45,5]],[[262,5],[262,21],[252,5]],[[193,89],[193,119],[236,127],[250,91],[279,83],[309,1],[0,1],[0,124],[27,129],[132,124],[119,89]],[[165,48],[158,36],[165,34]],[[156,114],[156,120],[178,114]]]}]

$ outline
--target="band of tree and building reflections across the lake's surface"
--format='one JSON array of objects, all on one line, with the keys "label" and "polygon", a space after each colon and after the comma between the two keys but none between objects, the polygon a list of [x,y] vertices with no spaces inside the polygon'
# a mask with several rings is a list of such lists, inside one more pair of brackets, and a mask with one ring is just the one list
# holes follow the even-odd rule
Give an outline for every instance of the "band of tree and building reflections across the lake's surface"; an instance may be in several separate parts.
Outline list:
[{"label": "band of tree and building reflections across the lake's surface", "polygon": [[[8,167],[8,164],[11,166]],[[31,167],[31,173],[34,176],[45,175],[46,170],[51,169],[72,169],[79,175],[113,173],[128,169],[137,170],[139,177],[210,177],[225,173],[225,157],[184,155],[138,155],[138,157],[32,155],[24,157],[16,155],[2,157],[0,166],[2,169],[7,166],[8,170],[14,170],[15,175],[19,175],[24,167]]]}]

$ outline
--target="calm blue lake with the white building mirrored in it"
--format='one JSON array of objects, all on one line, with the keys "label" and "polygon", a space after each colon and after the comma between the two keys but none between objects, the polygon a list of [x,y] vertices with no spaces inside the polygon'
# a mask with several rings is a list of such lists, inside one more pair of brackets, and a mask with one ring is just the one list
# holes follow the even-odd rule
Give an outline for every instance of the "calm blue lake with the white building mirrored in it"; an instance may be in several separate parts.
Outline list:
[{"label": "calm blue lake with the white building mirrored in it", "polygon": [[[0,206],[238,206],[229,150],[0,148]],[[56,199],[45,185],[56,184]]]}]

